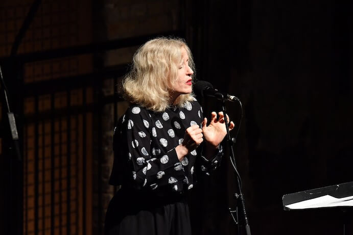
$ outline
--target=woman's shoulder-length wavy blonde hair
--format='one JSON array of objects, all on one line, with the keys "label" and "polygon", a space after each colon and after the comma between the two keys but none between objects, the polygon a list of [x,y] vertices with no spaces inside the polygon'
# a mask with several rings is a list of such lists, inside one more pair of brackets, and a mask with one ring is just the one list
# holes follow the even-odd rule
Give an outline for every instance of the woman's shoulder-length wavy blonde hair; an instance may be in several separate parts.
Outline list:
[{"label": "woman's shoulder-length wavy blonde hair", "polygon": [[[195,71],[190,48],[183,39],[161,37],[140,46],[133,56],[130,72],[123,80],[125,99],[155,112],[169,108],[172,105],[171,88],[177,81],[182,61],[182,47],[189,56],[189,66]],[[193,99],[192,93],[182,94],[175,104],[182,107],[186,101]]]}]

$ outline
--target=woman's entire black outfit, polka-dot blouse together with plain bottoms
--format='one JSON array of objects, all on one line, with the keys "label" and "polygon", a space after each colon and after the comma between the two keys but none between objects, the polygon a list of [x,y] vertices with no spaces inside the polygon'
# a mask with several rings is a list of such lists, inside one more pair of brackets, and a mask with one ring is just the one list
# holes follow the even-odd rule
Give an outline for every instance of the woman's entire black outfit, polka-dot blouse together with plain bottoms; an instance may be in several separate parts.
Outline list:
[{"label": "woman's entire black outfit, polka-dot blouse together with plain bottoms", "polygon": [[[179,234],[156,230],[163,228],[165,232],[170,229],[168,226],[184,235],[191,234],[191,230],[185,231],[190,220],[184,194],[193,188],[198,174],[209,174],[217,168],[223,152],[220,148],[215,158],[208,161],[198,148],[179,162],[175,147],[183,141],[186,128],[200,126],[202,120],[202,108],[196,100],[158,113],[137,105],[127,109],[114,129],[114,164],[109,183],[121,185],[122,192],[117,192],[109,204],[106,228],[115,226],[110,229],[115,233],[108,234]],[[125,202],[117,202],[121,200]],[[152,214],[148,217],[154,222],[146,221],[145,216]],[[172,222],[163,227],[156,216]],[[112,221],[114,225],[109,224]],[[151,224],[156,229],[150,230]],[[130,229],[127,225],[145,227],[151,232],[124,230]]]}]

